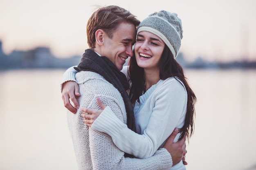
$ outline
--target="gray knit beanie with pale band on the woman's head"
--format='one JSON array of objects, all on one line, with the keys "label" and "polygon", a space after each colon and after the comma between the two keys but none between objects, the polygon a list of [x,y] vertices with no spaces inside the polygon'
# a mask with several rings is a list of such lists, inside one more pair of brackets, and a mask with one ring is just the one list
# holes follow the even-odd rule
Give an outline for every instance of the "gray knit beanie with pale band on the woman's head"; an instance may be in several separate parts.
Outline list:
[{"label": "gray knit beanie with pale band on the woman's head", "polygon": [[176,13],[159,11],[148,15],[138,26],[137,33],[148,31],[161,38],[176,58],[180,50],[182,23]]}]

